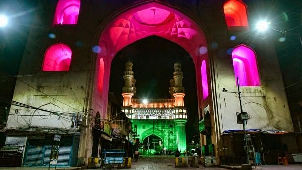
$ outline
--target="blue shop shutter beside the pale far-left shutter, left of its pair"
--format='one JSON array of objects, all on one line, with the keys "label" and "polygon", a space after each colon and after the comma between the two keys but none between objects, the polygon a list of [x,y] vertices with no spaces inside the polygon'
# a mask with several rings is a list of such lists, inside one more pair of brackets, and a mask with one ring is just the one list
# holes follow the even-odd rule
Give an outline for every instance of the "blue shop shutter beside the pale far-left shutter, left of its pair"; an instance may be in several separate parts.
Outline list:
[{"label": "blue shop shutter beside the pale far-left shutter, left of its pair", "polygon": [[24,166],[41,166],[44,158],[44,146],[28,145],[24,160]]}]

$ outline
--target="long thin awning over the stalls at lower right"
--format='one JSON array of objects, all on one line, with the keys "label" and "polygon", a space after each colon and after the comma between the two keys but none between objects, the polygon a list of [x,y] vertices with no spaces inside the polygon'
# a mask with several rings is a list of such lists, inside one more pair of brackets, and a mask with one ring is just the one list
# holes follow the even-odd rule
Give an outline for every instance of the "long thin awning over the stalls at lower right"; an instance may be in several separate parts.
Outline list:
[{"label": "long thin awning over the stalls at lower right", "polygon": [[[262,130],[262,129],[246,129],[246,133],[248,134],[254,134],[254,133],[266,133],[266,134],[289,134],[291,132],[285,131],[285,130]],[[231,130],[225,130],[222,135],[226,134],[243,134],[243,130],[239,129],[231,129]]]}]

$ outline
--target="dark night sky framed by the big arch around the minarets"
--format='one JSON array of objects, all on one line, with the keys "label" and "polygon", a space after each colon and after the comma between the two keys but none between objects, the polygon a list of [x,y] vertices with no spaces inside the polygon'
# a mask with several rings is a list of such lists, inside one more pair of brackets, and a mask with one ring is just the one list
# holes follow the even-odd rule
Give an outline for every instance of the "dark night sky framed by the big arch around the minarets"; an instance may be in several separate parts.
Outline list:
[{"label": "dark night sky framed by the big arch around the minarets", "polygon": [[187,142],[198,134],[198,106],[195,69],[192,58],[179,45],[157,37],[147,37],[122,49],[111,64],[109,91],[122,104],[123,72],[128,60],[133,62],[137,93],[134,98],[170,98],[169,80],[173,78],[174,63],[182,64],[185,87],[184,102],[188,112]]}]

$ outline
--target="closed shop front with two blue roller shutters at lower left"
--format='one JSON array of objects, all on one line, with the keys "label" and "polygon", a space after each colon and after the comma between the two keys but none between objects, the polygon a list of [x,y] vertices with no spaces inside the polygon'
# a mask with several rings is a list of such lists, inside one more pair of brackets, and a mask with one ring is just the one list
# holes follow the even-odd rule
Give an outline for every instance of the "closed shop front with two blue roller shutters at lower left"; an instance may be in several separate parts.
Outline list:
[{"label": "closed shop front with two blue roller shutters at lower left", "polygon": [[[24,166],[48,166],[53,137],[29,139]],[[71,166],[73,137],[61,137],[57,166]]]}]

